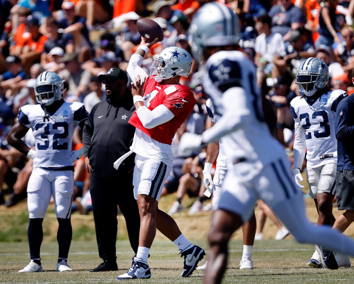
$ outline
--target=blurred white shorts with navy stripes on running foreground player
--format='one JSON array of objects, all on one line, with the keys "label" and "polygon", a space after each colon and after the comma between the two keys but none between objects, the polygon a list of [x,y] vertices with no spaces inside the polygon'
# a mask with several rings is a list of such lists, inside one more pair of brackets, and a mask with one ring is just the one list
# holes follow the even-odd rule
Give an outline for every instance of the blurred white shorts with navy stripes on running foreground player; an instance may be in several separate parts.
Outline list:
[{"label": "blurred white shorts with navy stripes on running foreground player", "polygon": [[223,189],[217,209],[234,212],[244,222],[251,218],[258,199],[273,207],[293,196],[302,195],[293,181],[285,153],[264,167],[261,163],[238,164],[237,169],[228,171]]}]

